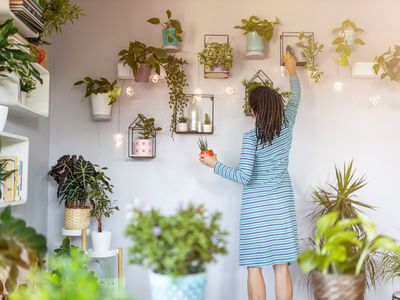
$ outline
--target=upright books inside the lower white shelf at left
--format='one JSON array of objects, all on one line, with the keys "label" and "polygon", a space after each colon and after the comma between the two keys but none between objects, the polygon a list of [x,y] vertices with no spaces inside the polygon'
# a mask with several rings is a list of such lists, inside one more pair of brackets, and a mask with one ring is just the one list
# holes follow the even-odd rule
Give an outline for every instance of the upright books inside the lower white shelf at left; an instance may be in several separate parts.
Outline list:
[{"label": "upright books inside the lower white shelf at left", "polygon": [[23,161],[18,159],[18,156],[0,156],[0,160],[7,160],[6,170],[15,172],[8,177],[4,182],[0,183],[2,189],[2,197],[0,202],[12,202],[22,200],[22,174]]}]

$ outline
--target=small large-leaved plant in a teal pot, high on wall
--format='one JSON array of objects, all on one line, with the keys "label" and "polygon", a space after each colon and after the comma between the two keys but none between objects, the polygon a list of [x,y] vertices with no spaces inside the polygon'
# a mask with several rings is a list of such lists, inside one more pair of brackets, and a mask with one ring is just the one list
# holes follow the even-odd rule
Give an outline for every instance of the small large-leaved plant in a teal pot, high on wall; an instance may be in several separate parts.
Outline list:
[{"label": "small large-leaved plant in a teal pot, high on wall", "polygon": [[165,50],[178,50],[178,42],[182,42],[182,25],[177,19],[171,19],[171,11],[166,11],[168,20],[161,22],[159,18],[150,18],[147,20],[150,24],[161,25],[163,36],[163,48]]}]

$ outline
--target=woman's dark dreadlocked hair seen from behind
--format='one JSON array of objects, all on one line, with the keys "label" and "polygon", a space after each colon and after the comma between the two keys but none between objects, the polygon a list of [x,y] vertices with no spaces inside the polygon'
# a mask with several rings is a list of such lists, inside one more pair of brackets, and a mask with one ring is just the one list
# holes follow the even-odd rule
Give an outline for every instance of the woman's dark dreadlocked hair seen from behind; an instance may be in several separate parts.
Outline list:
[{"label": "woman's dark dreadlocked hair seen from behind", "polygon": [[266,86],[250,91],[249,105],[256,118],[257,144],[271,145],[280,136],[285,123],[285,106],[282,95]]}]

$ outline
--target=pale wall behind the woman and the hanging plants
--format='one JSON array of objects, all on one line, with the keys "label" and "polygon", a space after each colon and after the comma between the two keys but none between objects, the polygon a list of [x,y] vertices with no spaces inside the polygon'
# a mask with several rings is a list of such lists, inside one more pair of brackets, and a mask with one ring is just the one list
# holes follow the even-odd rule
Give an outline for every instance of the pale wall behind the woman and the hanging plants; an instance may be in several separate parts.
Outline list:
[{"label": "pale wall behind the woman and the hanging plants", "polygon": [[[161,4],[162,3],[162,4]],[[283,25],[279,31],[314,31],[316,39],[324,43],[325,53],[319,63],[326,75],[321,83],[311,83],[300,71],[303,87],[302,103],[297,118],[290,172],[296,194],[301,237],[306,237],[310,223],[305,216],[310,212],[311,187],[333,180],[334,163],[354,159],[359,174],[366,174],[368,186],[360,193],[363,201],[379,207],[370,213],[379,228],[398,237],[400,221],[397,219],[400,161],[400,99],[398,83],[379,80],[352,80],[349,69],[340,70],[343,91],[333,89],[336,65],[330,42],[331,30],[342,20],[351,17],[366,30],[363,35],[368,44],[359,47],[354,60],[371,60],[376,54],[398,43],[397,20],[400,4],[396,0],[164,0],[164,1],[80,1],[87,17],[77,25],[67,26],[64,34],[54,43],[55,65],[52,70],[52,109],[50,119],[50,164],[66,153],[79,153],[100,165],[110,168],[115,184],[114,198],[121,208],[135,196],[146,204],[171,209],[181,201],[204,202],[211,210],[224,213],[223,226],[231,232],[230,253],[209,267],[208,299],[245,299],[245,269],[237,266],[238,226],[241,187],[215,177],[197,161],[196,136],[169,137],[168,89],[158,85],[134,84],[136,95],[121,99],[121,129],[125,133],[137,113],[154,116],[165,130],[157,140],[157,158],[150,161],[132,161],[127,158],[126,136],[124,145],[114,145],[113,134],[118,128],[117,109],[111,122],[95,123],[91,120],[89,101],[83,100],[83,91],[72,88],[73,82],[85,75],[112,78],[116,73],[117,53],[127,47],[130,40],[160,45],[160,30],[146,23],[153,16],[164,16],[165,9],[183,21],[185,35],[183,50],[179,53],[190,60],[187,69],[191,80],[188,92],[196,88],[197,63],[195,53],[201,50],[203,34],[228,33],[235,49],[235,62],[227,80],[200,78],[204,92],[215,94],[216,133],[209,144],[219,158],[237,163],[242,133],[251,128],[252,120],[242,113],[243,88],[240,81],[250,78],[258,69],[287,88],[287,79],[279,72],[279,34],[270,44],[269,58],[261,61],[244,59],[245,38],[233,29],[243,17],[256,13],[260,17],[279,16]],[[237,94],[227,96],[224,89],[232,85]],[[371,96],[380,96],[377,107],[369,104]],[[60,241],[62,207],[57,206],[55,189],[49,192],[48,234],[51,246]],[[107,221],[114,232],[113,243],[127,249],[124,237],[127,224],[125,211],[116,213]],[[125,252],[126,253],[126,252]],[[128,265],[124,257],[127,287],[137,299],[149,299],[145,270]],[[304,287],[304,276],[293,267],[296,286],[295,299],[310,299]],[[265,271],[268,292],[273,293],[273,277]],[[398,286],[398,283],[395,283]],[[390,299],[392,284],[368,293],[367,299]]]}]

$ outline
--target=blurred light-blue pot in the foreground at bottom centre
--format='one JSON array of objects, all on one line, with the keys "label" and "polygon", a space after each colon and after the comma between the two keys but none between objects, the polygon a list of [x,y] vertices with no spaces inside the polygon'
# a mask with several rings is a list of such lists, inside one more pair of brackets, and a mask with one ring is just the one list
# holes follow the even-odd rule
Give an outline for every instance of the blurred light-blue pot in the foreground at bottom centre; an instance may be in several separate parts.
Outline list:
[{"label": "blurred light-blue pot in the foreground at bottom centre", "polygon": [[207,277],[205,273],[172,278],[149,271],[152,300],[203,300]]}]

